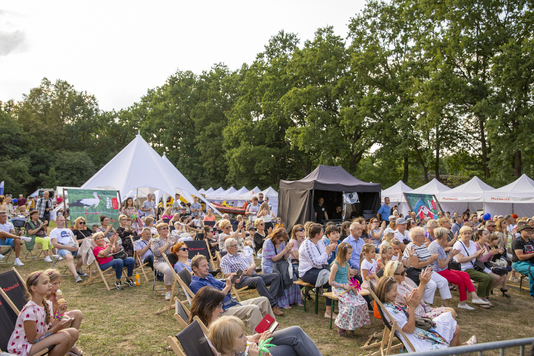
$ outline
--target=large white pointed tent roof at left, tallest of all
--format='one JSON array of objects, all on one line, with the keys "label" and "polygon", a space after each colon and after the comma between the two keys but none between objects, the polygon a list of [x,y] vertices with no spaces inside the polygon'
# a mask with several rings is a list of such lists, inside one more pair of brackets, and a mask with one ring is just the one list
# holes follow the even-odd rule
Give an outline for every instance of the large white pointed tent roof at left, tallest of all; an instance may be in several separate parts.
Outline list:
[{"label": "large white pointed tent roof at left, tallest of all", "polygon": [[[143,162],[146,169],[142,169]],[[165,176],[166,169],[158,153],[137,134],[122,151],[82,185],[84,189],[113,189],[121,196],[132,189],[144,193],[161,190],[174,194],[174,188]]]}]

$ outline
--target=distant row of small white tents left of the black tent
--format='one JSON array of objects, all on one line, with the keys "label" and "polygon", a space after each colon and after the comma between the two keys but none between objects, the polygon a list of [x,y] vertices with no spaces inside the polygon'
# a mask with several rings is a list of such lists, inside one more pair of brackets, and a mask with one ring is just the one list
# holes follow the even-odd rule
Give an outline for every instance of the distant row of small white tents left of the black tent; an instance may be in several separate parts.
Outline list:
[{"label": "distant row of small white tents left of the black tent", "polygon": [[276,215],[278,213],[278,192],[272,187],[265,190],[261,190],[257,186],[251,190],[246,187],[241,187],[241,189],[235,189],[234,187],[213,189],[210,187],[207,190],[200,189],[199,192],[212,203],[222,204],[226,202],[228,205],[235,207],[242,207],[247,200],[251,200],[252,197],[257,197],[258,194],[263,193],[264,197],[269,198],[269,203],[274,214]]}]

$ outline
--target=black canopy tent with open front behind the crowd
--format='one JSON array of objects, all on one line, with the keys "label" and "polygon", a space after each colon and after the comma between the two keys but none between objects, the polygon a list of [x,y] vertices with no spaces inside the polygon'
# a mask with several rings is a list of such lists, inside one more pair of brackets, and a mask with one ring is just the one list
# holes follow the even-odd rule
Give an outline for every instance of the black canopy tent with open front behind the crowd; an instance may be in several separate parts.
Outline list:
[{"label": "black canopy tent with open front behind the crowd", "polygon": [[[360,202],[350,211],[356,216],[376,215],[380,208],[380,183],[367,183],[353,177],[340,166],[318,166],[301,180],[280,180],[278,215],[288,228],[315,221],[315,206],[323,198],[329,217],[336,206],[343,207],[343,193],[358,193]],[[346,219],[350,216],[346,216]]]}]

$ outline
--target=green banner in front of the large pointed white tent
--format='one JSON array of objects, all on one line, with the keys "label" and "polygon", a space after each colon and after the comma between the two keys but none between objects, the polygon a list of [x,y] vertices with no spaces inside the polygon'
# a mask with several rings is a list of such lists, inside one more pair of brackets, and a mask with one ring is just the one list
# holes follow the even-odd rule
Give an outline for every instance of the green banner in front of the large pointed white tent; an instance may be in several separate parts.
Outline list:
[{"label": "green banner in front of the large pointed white tent", "polygon": [[72,223],[82,216],[87,228],[91,229],[94,224],[100,226],[100,215],[107,216],[110,223],[118,221],[120,205],[116,190],[69,188],[67,194]]}]

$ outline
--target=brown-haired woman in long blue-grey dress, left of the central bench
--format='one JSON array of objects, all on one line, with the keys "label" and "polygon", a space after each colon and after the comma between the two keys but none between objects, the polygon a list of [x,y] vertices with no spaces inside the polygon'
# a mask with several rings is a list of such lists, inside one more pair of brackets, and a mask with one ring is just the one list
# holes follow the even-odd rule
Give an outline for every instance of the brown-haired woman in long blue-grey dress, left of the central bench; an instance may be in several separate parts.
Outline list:
[{"label": "brown-haired woman in long blue-grey dress, left of the central bench", "polygon": [[287,232],[284,228],[274,230],[263,244],[263,254],[261,259],[261,268],[263,273],[278,272],[281,276],[284,295],[278,297],[276,304],[283,309],[291,309],[291,304],[302,305],[302,297],[300,295],[300,288],[293,284],[293,277],[296,273],[290,276],[290,252],[293,249],[293,242],[286,244],[288,239]]}]

